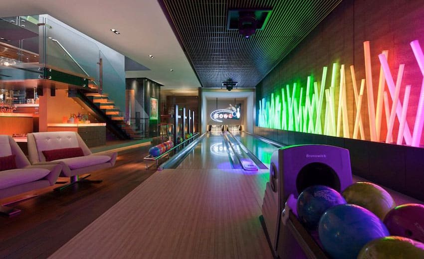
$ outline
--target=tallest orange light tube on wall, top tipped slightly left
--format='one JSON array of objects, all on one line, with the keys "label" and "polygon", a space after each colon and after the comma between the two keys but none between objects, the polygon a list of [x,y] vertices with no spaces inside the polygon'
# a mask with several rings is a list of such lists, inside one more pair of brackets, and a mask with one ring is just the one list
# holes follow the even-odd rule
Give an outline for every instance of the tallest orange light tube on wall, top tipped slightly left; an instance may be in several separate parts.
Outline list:
[{"label": "tallest orange light tube on wall, top tipped slightly left", "polygon": [[370,120],[370,135],[372,141],[377,141],[376,112],[374,108],[373,76],[371,68],[370,42],[364,41],[365,78],[367,83],[368,117]]}]

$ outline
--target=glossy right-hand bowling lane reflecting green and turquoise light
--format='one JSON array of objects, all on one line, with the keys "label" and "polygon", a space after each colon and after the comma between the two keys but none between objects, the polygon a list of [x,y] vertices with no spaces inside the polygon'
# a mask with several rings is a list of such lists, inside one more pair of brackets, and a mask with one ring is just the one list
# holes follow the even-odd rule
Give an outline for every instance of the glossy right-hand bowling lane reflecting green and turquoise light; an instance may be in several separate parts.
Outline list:
[{"label": "glossy right-hand bowling lane reflecting green and turquoise light", "polygon": [[245,132],[241,132],[240,136],[235,137],[237,137],[250,152],[256,155],[256,157],[269,168],[271,155],[278,147],[268,144]]}]

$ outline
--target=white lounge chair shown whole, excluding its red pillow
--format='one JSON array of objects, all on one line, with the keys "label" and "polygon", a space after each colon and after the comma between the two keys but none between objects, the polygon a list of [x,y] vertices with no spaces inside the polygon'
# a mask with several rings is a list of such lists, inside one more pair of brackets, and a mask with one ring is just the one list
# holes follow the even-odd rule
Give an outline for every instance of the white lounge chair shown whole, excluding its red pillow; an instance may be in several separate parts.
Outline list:
[{"label": "white lounge chair shown whole, excluding its red pillow", "polygon": [[[101,180],[90,181],[79,179],[78,176],[115,165],[116,152],[105,155],[92,154],[80,135],[74,131],[34,132],[29,133],[27,138],[29,160],[32,164],[60,163],[62,165],[60,176],[70,177],[69,184],[58,187],[56,190],[66,188],[77,182],[100,183]],[[84,155],[46,161],[46,157],[43,154],[45,150],[75,147],[80,147]]]}]

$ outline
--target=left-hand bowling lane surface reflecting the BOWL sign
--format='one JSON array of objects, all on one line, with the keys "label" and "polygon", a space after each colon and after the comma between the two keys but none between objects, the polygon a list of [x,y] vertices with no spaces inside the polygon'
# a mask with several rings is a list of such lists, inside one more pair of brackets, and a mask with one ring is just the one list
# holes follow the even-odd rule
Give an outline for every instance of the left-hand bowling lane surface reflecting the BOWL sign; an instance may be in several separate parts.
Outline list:
[{"label": "left-hand bowling lane surface reflecting the BOWL sign", "polygon": [[231,169],[223,136],[208,133],[177,169]]}]

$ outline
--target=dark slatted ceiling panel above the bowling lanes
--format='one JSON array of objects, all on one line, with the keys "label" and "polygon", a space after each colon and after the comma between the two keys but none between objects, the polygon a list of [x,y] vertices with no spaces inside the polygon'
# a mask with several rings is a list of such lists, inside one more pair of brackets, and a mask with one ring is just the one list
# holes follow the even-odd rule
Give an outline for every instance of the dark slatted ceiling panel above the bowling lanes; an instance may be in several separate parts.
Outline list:
[{"label": "dark slatted ceiling panel above the bowling lanes", "polygon": [[[341,0],[159,0],[203,87],[255,87]],[[272,8],[263,30],[227,29],[229,8]]]}]

